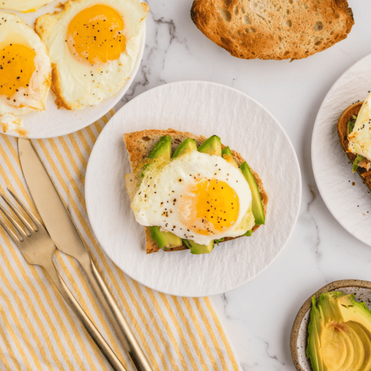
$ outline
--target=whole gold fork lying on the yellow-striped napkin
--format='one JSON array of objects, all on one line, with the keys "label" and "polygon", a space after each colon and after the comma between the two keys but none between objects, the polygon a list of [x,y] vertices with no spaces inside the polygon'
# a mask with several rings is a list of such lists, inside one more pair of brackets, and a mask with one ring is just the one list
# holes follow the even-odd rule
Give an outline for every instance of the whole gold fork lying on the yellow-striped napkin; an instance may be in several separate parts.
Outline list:
[{"label": "whole gold fork lying on the yellow-striped napkin", "polygon": [[72,292],[64,283],[57,268],[55,268],[53,263],[53,255],[56,247],[48,232],[40,223],[40,221],[35,217],[32,211],[9,188],[7,189],[13,196],[13,198],[17,201],[17,203],[23,208],[26,214],[30,217],[35,226],[31,226],[31,224],[28,223],[28,221],[23,217],[21,212],[2,193],[0,193],[0,196],[20,219],[23,227],[21,227],[20,224],[1,205],[0,210],[16,228],[16,230],[20,234],[20,237],[18,237],[17,234],[15,234],[1,218],[0,225],[5,229],[5,231],[9,234],[9,236],[21,250],[21,253],[29,264],[39,265],[46,270],[64,300],[74,311],[77,317],[81,320],[82,325],[92,337],[94,342],[97,344],[98,348],[102,351],[103,355],[110,363],[112,368],[115,371],[126,371],[124,365],[121,363],[117,355],[105,341],[102,334],[95,327],[85,311],[82,309],[79,302],[76,300]]}]

